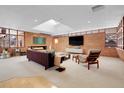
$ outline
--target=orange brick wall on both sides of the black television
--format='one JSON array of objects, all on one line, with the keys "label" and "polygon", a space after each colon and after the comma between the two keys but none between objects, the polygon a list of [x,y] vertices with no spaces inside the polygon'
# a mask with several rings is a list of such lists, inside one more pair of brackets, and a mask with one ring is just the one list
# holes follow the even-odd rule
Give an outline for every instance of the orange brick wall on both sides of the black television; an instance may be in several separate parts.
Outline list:
[{"label": "orange brick wall on both sides of the black television", "polygon": [[[54,49],[56,51],[64,51],[69,46],[68,37],[58,37],[58,44],[54,44]],[[106,48],[105,47],[105,33],[92,33],[84,35],[84,45],[81,46],[84,53],[87,54],[88,50],[91,48],[100,48],[102,49],[101,55],[110,56],[110,57],[118,57],[117,51],[115,48]]]}]

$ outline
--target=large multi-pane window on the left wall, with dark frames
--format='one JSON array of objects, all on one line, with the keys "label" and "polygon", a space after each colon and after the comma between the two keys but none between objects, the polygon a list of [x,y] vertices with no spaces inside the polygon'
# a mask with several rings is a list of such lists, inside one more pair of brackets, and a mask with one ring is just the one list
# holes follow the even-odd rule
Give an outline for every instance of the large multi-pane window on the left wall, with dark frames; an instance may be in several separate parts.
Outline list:
[{"label": "large multi-pane window on the left wall, with dark frames", "polygon": [[24,32],[0,28],[0,47],[24,47]]}]

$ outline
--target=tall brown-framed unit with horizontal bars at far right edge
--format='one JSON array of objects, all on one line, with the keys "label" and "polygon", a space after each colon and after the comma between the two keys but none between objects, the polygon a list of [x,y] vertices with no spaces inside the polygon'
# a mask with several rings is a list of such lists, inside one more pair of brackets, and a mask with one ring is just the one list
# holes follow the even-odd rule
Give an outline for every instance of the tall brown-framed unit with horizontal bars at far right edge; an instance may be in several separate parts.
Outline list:
[{"label": "tall brown-framed unit with horizontal bars at far right edge", "polygon": [[118,25],[117,29],[117,47],[124,50],[124,17]]}]

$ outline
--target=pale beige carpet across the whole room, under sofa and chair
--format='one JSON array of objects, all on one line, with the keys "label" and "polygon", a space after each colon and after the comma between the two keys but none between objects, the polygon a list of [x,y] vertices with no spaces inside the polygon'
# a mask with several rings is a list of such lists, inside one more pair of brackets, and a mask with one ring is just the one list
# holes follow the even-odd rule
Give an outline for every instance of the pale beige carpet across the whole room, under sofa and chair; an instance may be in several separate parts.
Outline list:
[{"label": "pale beige carpet across the whole room, under sofa and chair", "polygon": [[0,80],[11,77],[43,76],[57,87],[124,87],[124,62],[118,58],[100,57],[100,68],[77,64],[72,60],[62,63],[64,72],[54,68],[44,70],[35,62],[28,62],[25,56],[0,60]]}]

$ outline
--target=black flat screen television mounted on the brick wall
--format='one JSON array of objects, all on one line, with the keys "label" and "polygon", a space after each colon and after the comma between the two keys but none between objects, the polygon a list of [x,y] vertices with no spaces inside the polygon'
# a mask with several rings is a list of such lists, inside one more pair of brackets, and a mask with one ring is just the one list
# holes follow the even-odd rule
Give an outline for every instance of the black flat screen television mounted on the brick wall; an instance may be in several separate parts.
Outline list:
[{"label": "black flat screen television mounted on the brick wall", "polygon": [[83,36],[71,36],[69,37],[69,45],[79,46],[83,45],[84,38]]}]

